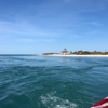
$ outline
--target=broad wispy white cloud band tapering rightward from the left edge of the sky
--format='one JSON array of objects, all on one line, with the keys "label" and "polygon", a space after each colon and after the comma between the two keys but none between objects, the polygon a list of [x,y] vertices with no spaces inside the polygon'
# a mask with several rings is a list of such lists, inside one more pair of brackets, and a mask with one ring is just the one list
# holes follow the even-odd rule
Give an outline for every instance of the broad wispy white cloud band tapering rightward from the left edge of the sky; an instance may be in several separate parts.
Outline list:
[{"label": "broad wispy white cloud band tapering rightward from the left edge of the sky", "polygon": [[59,37],[63,33],[46,28],[37,27],[29,23],[11,23],[6,21],[0,21],[0,33],[2,36],[30,36],[30,37]]}]

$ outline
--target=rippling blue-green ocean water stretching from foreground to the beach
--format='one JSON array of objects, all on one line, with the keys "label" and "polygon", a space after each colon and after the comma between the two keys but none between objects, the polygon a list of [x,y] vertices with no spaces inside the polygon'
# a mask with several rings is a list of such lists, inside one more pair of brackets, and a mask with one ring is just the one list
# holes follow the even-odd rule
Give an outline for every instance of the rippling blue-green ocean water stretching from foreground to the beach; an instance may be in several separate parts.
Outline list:
[{"label": "rippling blue-green ocean water stretching from foreground to the beach", "polygon": [[0,56],[0,108],[91,108],[108,96],[108,57]]}]

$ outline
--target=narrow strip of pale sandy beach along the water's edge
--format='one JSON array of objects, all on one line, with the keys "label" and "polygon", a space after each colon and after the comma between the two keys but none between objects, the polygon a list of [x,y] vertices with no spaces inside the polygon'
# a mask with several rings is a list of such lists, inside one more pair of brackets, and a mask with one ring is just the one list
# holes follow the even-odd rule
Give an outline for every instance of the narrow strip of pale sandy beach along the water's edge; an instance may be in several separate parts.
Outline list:
[{"label": "narrow strip of pale sandy beach along the water's edge", "polygon": [[42,55],[42,56],[69,56],[69,57],[108,57],[108,55],[62,55],[62,54]]}]

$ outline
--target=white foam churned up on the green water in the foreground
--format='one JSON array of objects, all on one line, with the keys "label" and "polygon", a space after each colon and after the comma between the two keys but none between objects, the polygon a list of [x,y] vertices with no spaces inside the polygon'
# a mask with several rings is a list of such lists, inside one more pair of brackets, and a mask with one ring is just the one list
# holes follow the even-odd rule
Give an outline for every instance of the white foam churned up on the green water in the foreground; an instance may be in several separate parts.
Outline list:
[{"label": "white foam churned up on the green water in the foreground", "polygon": [[40,99],[46,108],[77,108],[75,103],[54,96],[52,93],[40,96]]}]

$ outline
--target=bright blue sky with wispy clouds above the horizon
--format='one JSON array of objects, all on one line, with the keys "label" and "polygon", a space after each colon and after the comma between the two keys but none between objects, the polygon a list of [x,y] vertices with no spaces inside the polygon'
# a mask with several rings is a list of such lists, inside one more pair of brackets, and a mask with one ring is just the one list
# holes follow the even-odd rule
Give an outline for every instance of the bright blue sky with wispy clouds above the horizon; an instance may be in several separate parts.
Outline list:
[{"label": "bright blue sky with wispy clouds above the horizon", "polygon": [[108,51],[108,0],[0,0],[0,54]]}]

